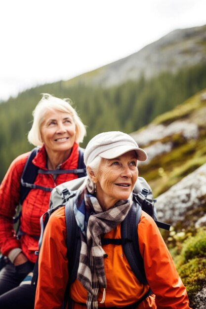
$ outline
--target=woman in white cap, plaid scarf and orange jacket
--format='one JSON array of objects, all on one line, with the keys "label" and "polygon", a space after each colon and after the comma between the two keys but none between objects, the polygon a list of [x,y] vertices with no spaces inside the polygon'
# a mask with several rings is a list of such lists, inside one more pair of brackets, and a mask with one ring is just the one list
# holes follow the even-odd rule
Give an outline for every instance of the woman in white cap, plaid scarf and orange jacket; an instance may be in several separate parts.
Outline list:
[{"label": "woman in white cap, plaid scarf and orange jacket", "polygon": [[[122,132],[101,133],[88,143],[84,152],[88,177],[74,203],[82,247],[77,279],[69,288],[69,308],[190,308],[161,233],[147,213],[141,214],[138,241],[148,284],[138,281],[122,245],[101,245],[101,237],[121,238],[121,222],[133,203],[137,163],[146,158],[136,142]],[[43,235],[35,309],[62,308],[70,263],[66,237],[61,207],[51,215]],[[149,288],[153,294],[144,298]]]}]

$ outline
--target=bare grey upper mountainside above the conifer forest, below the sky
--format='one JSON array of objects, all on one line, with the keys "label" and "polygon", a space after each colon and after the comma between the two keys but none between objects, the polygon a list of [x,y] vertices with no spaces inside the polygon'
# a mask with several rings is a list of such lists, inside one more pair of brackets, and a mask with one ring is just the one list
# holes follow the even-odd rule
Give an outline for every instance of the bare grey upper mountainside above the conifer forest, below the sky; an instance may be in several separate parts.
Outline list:
[{"label": "bare grey upper mountainside above the conifer forest, below the sky", "polygon": [[172,31],[128,57],[66,83],[110,87],[141,75],[150,78],[161,72],[176,73],[203,62],[206,62],[206,25]]}]

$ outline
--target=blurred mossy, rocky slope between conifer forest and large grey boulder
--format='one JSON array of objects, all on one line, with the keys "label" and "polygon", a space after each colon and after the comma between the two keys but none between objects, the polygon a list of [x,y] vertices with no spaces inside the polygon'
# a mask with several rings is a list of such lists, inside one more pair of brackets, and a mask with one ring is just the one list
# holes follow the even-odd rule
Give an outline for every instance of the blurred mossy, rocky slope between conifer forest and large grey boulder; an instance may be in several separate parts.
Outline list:
[{"label": "blurred mossy, rocky slope between conifer forest and large grey boulder", "polygon": [[206,90],[131,133],[148,160],[140,174],[160,195],[206,163]]}]

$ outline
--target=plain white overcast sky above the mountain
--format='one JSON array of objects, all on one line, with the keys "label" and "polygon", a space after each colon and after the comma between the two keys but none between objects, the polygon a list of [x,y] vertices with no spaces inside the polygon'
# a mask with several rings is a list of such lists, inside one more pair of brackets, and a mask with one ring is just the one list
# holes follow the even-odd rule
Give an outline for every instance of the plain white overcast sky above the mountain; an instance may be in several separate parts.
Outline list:
[{"label": "plain white overcast sky above the mountain", "polygon": [[170,31],[206,24],[206,0],[2,0],[0,99],[70,79]]}]

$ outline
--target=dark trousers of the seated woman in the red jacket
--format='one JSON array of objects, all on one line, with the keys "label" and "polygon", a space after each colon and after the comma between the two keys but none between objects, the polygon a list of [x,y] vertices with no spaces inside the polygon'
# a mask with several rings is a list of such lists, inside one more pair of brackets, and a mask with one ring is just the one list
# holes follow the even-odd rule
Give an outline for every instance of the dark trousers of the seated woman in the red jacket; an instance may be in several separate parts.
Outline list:
[{"label": "dark trousers of the seated woman in the red jacket", "polygon": [[19,286],[33,269],[34,264],[29,261],[19,266],[9,262],[0,271],[0,309],[34,309],[36,287]]}]

